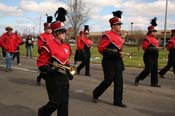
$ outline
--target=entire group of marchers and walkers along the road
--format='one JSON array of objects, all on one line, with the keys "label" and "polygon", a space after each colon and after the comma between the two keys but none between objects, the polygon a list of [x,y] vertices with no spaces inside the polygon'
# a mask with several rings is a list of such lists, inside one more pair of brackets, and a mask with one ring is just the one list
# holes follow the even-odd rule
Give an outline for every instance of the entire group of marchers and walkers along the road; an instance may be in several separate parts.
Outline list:
[{"label": "entire group of marchers and walkers along the road", "polygon": [[[127,105],[123,102],[123,43],[121,37],[121,16],[122,11],[112,12],[113,17],[109,19],[111,30],[106,31],[100,43],[98,51],[103,56],[102,68],[104,79],[92,92],[92,102],[98,103],[99,97],[105,90],[114,83],[113,105],[126,108]],[[69,58],[72,55],[71,47],[64,40],[66,38],[66,21],[67,11],[60,7],[55,13],[56,19],[52,22],[52,17],[47,16],[47,22],[44,23],[44,32],[39,34],[37,47],[38,58],[37,66],[40,71],[36,82],[38,85],[41,79],[45,80],[46,90],[48,94],[48,102],[38,109],[38,116],[51,116],[57,110],[58,116],[68,116],[69,104],[69,80],[73,76],[66,67],[70,67]],[[167,66],[158,73],[158,56],[159,42],[156,38],[157,30],[156,18],[151,20],[151,25],[148,26],[148,33],[143,40],[142,48],[144,50],[143,60],[145,64],[144,70],[135,78],[134,84],[138,86],[140,81],[143,81],[149,73],[151,73],[151,86],[160,87],[158,84],[158,74],[161,78],[173,67],[175,74],[175,32],[172,32],[172,39],[168,42],[169,50]],[[12,71],[13,59],[17,57],[17,64],[20,64],[20,45],[24,42],[19,32],[13,33],[13,28],[7,26],[5,32],[0,39],[3,56],[6,61],[6,71]],[[90,73],[90,57],[92,40],[89,38],[89,26],[85,25],[84,30],[81,30],[77,37],[76,52],[74,56],[74,65],[79,75],[81,69],[85,67],[85,75],[91,76]],[[28,35],[25,41],[26,57],[32,58],[33,40],[32,36]],[[81,63],[78,64],[78,61]]]}]

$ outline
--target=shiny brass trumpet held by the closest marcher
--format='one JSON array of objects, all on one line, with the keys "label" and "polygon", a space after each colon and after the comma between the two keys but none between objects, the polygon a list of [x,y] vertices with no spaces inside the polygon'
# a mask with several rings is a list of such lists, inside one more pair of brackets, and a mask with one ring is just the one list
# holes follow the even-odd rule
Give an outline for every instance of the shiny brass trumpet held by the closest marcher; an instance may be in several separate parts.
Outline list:
[{"label": "shiny brass trumpet held by the closest marcher", "polygon": [[[66,71],[69,71],[70,75],[71,76],[74,76],[75,73],[76,73],[76,68],[74,66],[64,66],[62,64],[58,64],[58,63],[51,63],[49,62],[50,65],[52,65],[55,69],[58,70],[58,72],[61,72],[61,73],[66,73]],[[61,69],[61,70],[60,70]]]}]

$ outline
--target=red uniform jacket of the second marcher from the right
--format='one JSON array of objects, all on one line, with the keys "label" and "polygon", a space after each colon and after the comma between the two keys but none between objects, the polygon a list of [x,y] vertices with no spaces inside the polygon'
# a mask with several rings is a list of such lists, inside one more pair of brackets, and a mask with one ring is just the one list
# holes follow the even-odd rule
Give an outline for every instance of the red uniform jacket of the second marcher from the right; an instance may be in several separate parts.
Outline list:
[{"label": "red uniform jacket of the second marcher from the right", "polygon": [[149,47],[150,44],[152,44],[155,47],[158,47],[159,46],[159,41],[154,36],[148,35],[146,37],[146,39],[143,40],[142,48],[144,50],[146,50]]}]

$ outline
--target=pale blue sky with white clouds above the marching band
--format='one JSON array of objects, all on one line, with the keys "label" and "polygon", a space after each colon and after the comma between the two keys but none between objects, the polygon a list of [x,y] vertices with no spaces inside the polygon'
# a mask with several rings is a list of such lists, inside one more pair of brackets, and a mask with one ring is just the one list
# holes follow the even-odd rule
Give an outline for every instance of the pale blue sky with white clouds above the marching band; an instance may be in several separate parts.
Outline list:
[{"label": "pale blue sky with white clouds above the marching band", "polygon": [[[123,11],[122,29],[146,30],[150,19],[157,17],[157,29],[164,29],[166,0],[84,0],[91,9],[90,20],[86,23],[90,31],[110,29],[112,12]],[[39,32],[46,21],[46,13],[53,15],[58,7],[66,7],[61,0],[0,0],[0,34],[8,25],[21,32]],[[175,0],[168,0],[167,29],[175,28]]]}]

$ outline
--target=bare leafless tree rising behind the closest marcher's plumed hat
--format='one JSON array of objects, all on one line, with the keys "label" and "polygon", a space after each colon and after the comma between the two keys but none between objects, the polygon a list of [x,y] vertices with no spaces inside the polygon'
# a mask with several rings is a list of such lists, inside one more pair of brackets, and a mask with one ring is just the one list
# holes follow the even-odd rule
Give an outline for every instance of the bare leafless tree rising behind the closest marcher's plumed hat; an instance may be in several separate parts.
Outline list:
[{"label": "bare leafless tree rising behind the closest marcher's plumed hat", "polygon": [[73,37],[76,37],[81,26],[89,19],[90,8],[83,0],[70,0],[68,3],[68,24],[73,29]]}]

